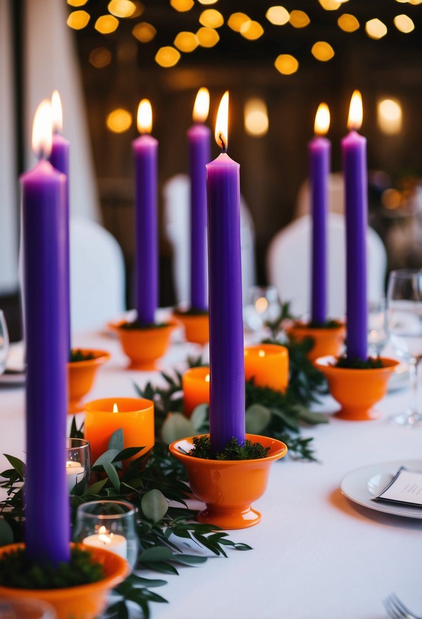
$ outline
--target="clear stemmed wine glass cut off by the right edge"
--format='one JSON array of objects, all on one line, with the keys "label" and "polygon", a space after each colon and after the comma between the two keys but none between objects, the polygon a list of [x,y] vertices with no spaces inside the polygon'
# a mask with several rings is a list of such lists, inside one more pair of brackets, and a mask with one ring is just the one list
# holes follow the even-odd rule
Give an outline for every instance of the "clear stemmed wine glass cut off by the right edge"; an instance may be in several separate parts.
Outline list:
[{"label": "clear stemmed wine glass cut off by the right edge", "polygon": [[418,364],[422,358],[422,271],[398,269],[390,273],[387,330],[397,356],[408,363],[413,390],[410,409],[391,419],[400,425],[420,425],[422,415],[417,405]]}]

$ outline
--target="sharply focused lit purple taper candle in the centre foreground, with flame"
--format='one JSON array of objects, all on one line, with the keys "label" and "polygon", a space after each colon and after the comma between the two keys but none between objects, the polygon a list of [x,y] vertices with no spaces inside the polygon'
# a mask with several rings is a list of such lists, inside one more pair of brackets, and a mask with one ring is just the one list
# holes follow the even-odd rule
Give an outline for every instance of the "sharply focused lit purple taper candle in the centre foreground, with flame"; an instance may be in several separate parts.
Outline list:
[{"label": "sharply focused lit purple taper candle in the centre foreground, with flame", "polygon": [[213,453],[245,439],[239,164],[227,148],[228,92],[218,109],[215,139],[222,154],[207,165],[210,441]]}]

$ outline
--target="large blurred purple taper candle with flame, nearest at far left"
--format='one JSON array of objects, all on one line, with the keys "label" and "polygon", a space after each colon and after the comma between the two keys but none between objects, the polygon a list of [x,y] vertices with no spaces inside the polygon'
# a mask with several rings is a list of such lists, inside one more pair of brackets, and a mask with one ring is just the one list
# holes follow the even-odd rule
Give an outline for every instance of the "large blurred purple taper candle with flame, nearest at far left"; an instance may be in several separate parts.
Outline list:
[{"label": "large blurred purple taper candle with flame, nearest at far left", "polygon": [[21,177],[27,354],[25,543],[35,563],[68,561],[66,480],[67,342],[66,178],[46,161],[51,104],[38,106],[33,150],[40,158]]}]

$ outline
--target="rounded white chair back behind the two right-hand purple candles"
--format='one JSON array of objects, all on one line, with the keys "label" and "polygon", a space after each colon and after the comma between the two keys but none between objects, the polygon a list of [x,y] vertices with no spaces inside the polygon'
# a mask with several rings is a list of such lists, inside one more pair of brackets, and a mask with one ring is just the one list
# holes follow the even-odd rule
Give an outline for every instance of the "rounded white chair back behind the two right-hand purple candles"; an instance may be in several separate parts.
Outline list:
[{"label": "rounded white chair back behind the two right-hand purple candles", "polygon": [[[304,215],[278,232],[267,254],[269,284],[283,301],[291,301],[297,316],[311,308],[311,216]],[[328,216],[328,315],[341,318],[346,311],[346,248],[343,215]],[[368,227],[366,233],[368,301],[384,297],[387,254],[381,238]]]}]

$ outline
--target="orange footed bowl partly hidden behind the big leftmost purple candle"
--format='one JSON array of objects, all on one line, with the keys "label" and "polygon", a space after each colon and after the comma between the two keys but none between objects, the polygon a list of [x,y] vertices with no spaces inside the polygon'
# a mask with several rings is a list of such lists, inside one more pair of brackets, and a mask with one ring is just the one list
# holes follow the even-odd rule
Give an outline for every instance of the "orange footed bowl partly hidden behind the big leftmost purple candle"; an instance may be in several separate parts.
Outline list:
[{"label": "orange footed bowl partly hidden behind the big leftmost purple candle", "polygon": [[67,376],[69,379],[69,406],[67,412],[71,415],[84,410],[82,398],[92,389],[95,374],[100,365],[110,359],[110,353],[106,350],[90,350],[79,348],[84,355],[94,355],[93,359],[86,361],[72,361],[67,363]]}]

